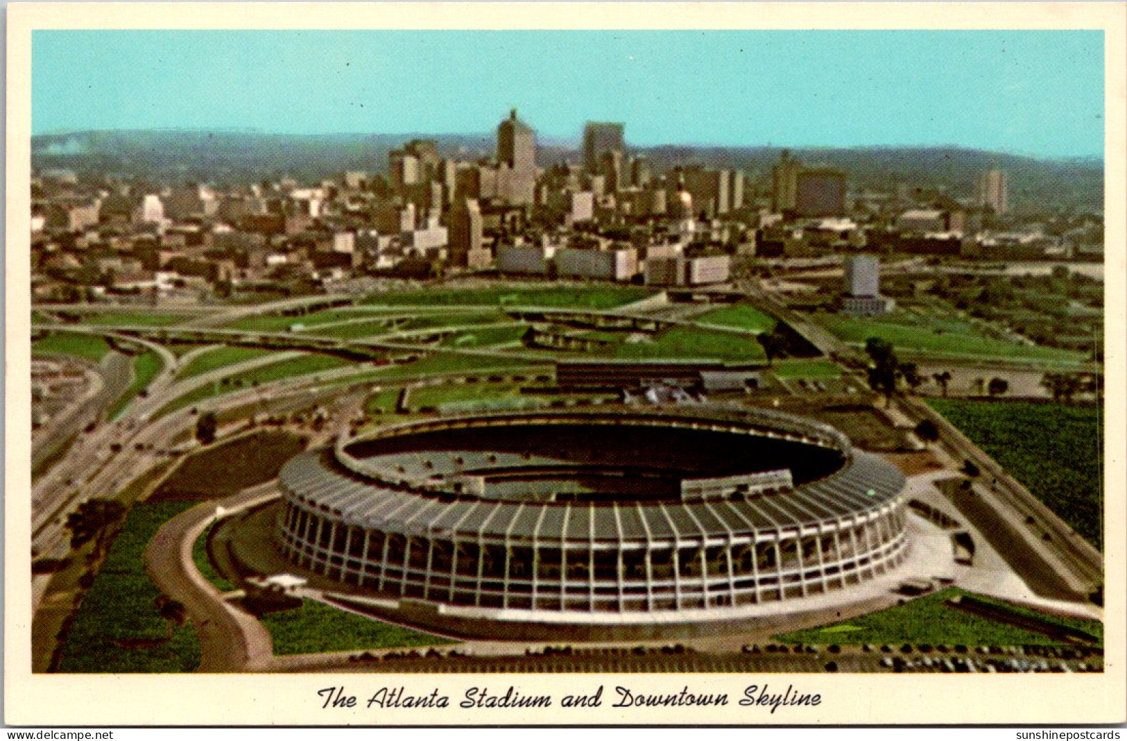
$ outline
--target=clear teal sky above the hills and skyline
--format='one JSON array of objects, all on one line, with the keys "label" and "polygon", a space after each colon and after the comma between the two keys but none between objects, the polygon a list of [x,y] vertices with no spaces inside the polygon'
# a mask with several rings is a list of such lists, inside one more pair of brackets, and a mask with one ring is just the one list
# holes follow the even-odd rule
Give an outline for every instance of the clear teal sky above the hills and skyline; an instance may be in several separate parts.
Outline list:
[{"label": "clear teal sky above the hills and skyline", "polygon": [[1102,157],[1102,32],[36,30],[33,131],[479,133]]}]

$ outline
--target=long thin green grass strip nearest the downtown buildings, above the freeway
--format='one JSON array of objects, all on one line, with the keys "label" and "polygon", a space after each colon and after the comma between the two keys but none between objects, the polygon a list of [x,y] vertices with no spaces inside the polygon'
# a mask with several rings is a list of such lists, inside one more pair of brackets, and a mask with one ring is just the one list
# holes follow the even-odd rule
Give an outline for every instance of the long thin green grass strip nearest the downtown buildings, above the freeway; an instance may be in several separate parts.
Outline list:
[{"label": "long thin green grass strip nearest the downtown buildings, above the freeway", "polygon": [[370,306],[536,306],[613,309],[653,295],[645,288],[625,285],[592,286],[506,286],[481,289],[436,289],[376,293]]}]

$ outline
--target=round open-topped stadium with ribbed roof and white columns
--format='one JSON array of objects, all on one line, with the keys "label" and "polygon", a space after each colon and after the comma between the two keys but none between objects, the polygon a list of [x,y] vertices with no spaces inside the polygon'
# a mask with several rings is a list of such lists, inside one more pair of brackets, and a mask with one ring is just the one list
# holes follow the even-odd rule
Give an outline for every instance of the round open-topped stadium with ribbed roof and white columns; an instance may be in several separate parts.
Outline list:
[{"label": "round open-topped stadium with ribbed roof and white columns", "polygon": [[307,451],[279,482],[292,564],[463,630],[738,619],[908,550],[903,475],[770,411],[429,418]]}]

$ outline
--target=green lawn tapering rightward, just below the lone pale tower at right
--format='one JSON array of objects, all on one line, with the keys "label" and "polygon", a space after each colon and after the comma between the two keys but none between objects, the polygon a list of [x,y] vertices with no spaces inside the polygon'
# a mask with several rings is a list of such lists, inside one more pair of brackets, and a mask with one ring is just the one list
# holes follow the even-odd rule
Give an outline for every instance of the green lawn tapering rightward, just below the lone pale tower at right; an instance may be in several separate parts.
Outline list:
[{"label": "green lawn tapering rightward, just below the lone pale tower at right", "polygon": [[1074,363],[1085,361],[1084,353],[1081,352],[987,337],[969,323],[938,317],[931,312],[897,309],[887,316],[872,318],[819,314],[816,315],[816,320],[848,343],[863,345],[869,337],[880,337],[893,343],[900,354],[937,353]]}]

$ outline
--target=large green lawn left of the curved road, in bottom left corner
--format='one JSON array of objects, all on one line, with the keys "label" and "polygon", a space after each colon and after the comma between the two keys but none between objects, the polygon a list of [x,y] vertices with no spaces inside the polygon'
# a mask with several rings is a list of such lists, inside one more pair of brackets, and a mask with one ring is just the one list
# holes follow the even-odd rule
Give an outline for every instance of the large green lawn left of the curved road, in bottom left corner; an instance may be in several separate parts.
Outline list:
[{"label": "large green lawn left of the curved road, in bottom left corner", "polygon": [[[168,673],[193,671],[199,664],[199,642],[190,625],[171,627],[171,638],[162,641],[170,624],[157,611],[160,591],[142,563],[145,545],[160,526],[194,505],[166,502],[130,510],[66,634],[60,671]],[[145,639],[156,645],[127,643]]]}]

